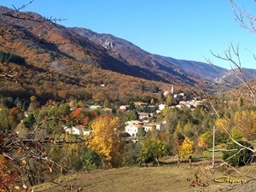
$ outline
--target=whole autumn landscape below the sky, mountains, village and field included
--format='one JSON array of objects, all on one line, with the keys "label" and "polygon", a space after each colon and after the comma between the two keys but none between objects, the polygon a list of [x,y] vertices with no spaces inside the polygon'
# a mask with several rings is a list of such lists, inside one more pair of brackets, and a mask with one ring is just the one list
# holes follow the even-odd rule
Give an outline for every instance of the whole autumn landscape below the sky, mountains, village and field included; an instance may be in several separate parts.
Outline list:
[{"label": "whole autumn landscape below the sky, mountains, village and field included", "polygon": [[255,69],[56,21],[0,6],[0,191],[253,189]]}]

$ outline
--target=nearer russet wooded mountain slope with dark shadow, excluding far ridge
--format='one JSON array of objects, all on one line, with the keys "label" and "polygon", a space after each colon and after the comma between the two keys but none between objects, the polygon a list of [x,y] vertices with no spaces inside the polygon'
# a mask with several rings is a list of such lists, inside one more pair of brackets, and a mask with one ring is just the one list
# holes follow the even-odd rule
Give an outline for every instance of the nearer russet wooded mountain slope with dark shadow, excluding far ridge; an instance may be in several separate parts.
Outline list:
[{"label": "nearer russet wooded mountain slope with dark shadow, excluding far ridge", "polygon": [[[195,83],[183,75],[172,77],[131,65],[73,30],[44,21],[45,18],[38,14],[22,13],[22,17],[28,20],[6,16],[13,12],[0,7],[1,21],[14,33],[5,37],[0,50],[20,56],[25,64],[3,63],[0,70],[1,73],[6,70],[18,73],[23,86],[4,80],[0,89],[4,96],[27,98],[35,95],[43,101],[49,98],[60,101],[73,96],[94,102],[103,102],[106,98],[112,102],[126,102],[137,96],[146,100],[153,96],[157,98],[153,95],[155,87],[168,90],[171,84],[177,84],[177,90],[189,90],[182,88],[181,84]],[[101,87],[101,84],[108,86]]]}]

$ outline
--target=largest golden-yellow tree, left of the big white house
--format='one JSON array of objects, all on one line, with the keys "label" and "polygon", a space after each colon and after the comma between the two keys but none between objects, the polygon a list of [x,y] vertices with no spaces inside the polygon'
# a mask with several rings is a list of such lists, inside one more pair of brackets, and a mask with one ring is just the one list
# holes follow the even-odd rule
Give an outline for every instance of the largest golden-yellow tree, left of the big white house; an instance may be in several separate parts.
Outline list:
[{"label": "largest golden-yellow tree, left of the big white house", "polygon": [[93,136],[88,140],[88,147],[104,156],[107,166],[118,166],[121,152],[121,142],[116,134],[118,119],[110,114],[99,116],[91,124]]}]

